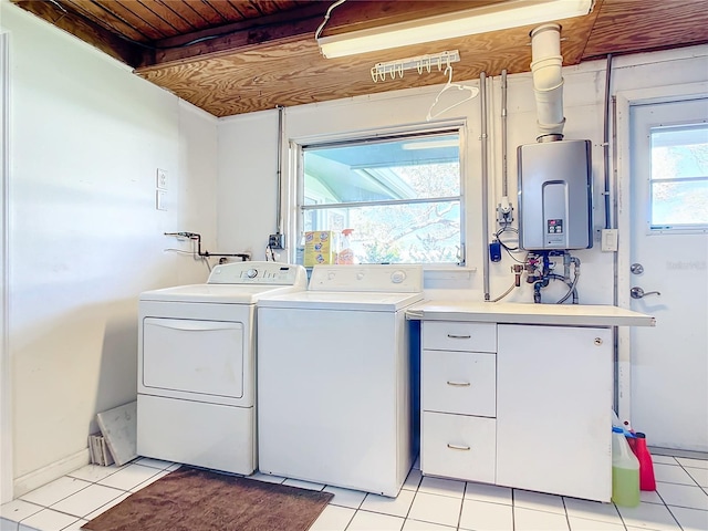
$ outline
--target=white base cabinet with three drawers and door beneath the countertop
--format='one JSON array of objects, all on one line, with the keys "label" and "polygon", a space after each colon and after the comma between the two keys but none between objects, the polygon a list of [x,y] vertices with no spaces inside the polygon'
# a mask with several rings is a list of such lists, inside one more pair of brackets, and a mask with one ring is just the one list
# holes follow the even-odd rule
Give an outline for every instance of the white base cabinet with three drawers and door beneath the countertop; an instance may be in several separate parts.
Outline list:
[{"label": "white base cabinet with three drawers and door beneath the countertop", "polygon": [[612,493],[612,330],[424,321],[424,475]]}]

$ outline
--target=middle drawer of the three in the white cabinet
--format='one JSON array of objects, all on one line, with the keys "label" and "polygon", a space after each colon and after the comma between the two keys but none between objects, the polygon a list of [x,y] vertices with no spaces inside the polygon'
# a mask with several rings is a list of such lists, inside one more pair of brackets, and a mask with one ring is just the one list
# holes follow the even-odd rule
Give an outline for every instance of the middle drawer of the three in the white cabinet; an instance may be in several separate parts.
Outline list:
[{"label": "middle drawer of the three in the white cabinet", "polygon": [[497,355],[423,351],[421,404],[427,412],[493,417],[497,414]]}]

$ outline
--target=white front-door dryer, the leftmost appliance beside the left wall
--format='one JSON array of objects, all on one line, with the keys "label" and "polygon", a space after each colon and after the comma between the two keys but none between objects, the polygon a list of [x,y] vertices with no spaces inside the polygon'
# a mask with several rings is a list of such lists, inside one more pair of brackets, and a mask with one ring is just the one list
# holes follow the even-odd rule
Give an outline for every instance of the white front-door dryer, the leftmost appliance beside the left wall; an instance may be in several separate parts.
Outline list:
[{"label": "white front-door dryer, the leftmost appliance beside the left wall", "polygon": [[253,472],[256,303],[305,288],[301,266],[235,262],[206,284],[142,293],[137,454]]}]

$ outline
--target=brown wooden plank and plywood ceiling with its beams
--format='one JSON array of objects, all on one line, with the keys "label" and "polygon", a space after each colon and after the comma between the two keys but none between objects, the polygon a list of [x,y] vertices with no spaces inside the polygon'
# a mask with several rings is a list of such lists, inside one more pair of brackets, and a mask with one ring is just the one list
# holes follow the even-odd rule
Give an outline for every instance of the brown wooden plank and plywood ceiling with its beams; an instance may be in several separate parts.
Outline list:
[{"label": "brown wooden plank and plywood ceiling with its beams", "polygon": [[[335,2],[305,0],[11,0],[135,69],[215,116],[440,84],[442,73],[408,71],[374,83],[385,61],[459,50],[455,80],[530,71],[522,27],[343,59],[314,39]],[[322,35],[385,25],[508,0],[348,0],[331,9]],[[708,42],[708,0],[595,0],[562,25],[563,64]]]}]

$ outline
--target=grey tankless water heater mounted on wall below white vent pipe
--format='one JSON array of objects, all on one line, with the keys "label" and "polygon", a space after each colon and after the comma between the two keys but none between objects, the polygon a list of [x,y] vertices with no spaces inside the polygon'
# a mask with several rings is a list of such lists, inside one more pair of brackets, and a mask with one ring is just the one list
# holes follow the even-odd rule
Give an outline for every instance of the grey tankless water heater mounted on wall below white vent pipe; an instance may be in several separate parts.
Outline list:
[{"label": "grey tankless water heater mounted on wall below white vent pipe", "polygon": [[517,148],[519,244],[529,251],[593,247],[590,140]]}]

